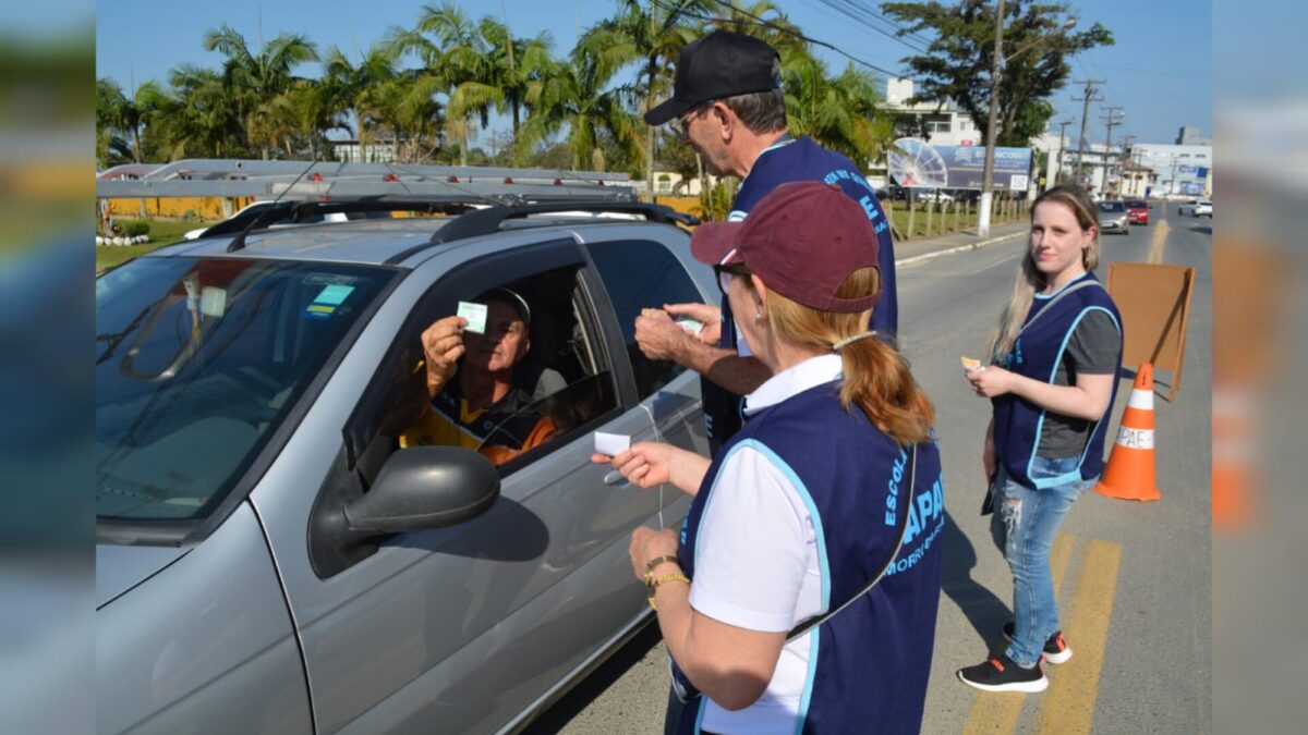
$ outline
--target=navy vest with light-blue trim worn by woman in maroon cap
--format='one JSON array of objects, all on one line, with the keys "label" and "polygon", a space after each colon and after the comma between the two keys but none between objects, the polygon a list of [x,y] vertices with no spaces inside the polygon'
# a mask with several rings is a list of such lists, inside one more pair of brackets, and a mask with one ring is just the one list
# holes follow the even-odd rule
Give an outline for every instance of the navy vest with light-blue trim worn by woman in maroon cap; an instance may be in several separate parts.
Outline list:
[{"label": "navy vest with light-blue trim worn by woman in maroon cap", "polygon": [[[904,545],[880,583],[806,634],[808,675],[799,718],[802,732],[917,732],[940,596],[940,453],[934,442],[918,446],[909,490],[908,451],[857,407],[841,408],[838,390],[838,382],[818,386],[749,419],[709,466],[681,526],[678,558],[693,579],[704,511],[714,494],[731,492],[717,485],[718,473],[747,446],[781,468],[808,506],[818,535],[821,612],[844,604],[871,579],[899,540],[900,514],[908,511]],[[698,731],[705,704],[700,697],[685,708],[679,732]]]}]

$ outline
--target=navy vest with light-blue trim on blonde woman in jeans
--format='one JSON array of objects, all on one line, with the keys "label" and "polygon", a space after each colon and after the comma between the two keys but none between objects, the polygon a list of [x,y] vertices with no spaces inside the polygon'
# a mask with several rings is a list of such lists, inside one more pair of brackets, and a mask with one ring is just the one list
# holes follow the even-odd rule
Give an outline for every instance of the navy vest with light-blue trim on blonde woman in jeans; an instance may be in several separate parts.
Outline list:
[{"label": "navy vest with light-blue trim on blonde woman in jeans", "polygon": [[[1090,285],[1069,292],[1076,284],[1090,281]],[[1093,273],[1084,276],[1059,289],[1067,292],[1062,298],[1058,293],[1041,298],[1037,297],[1031,305],[1022,332],[1012,345],[1012,350],[1005,357],[1003,366],[1008,370],[1028,378],[1053,383],[1067,349],[1076,324],[1091,311],[1104,311],[1112,316],[1121,333],[1122,318],[1117,313],[1108,290],[1103,288]],[[1044,311],[1052,310],[1048,314]],[[1037,318],[1039,316],[1039,318]],[[1117,364],[1121,365],[1122,348],[1117,347]],[[1120,370],[1120,368],[1118,368]],[[1118,373],[1120,374],[1120,373]],[[994,405],[994,449],[999,462],[1010,477],[1018,480],[1028,488],[1052,488],[1065,485],[1076,480],[1091,480],[1104,471],[1104,434],[1108,430],[1108,411],[1112,409],[1113,399],[1117,396],[1117,381],[1113,381],[1112,398],[1108,400],[1108,409],[1104,416],[1095,421],[1090,430],[1090,439],[1080,454],[1078,467],[1058,477],[1031,479],[1031,463],[1036,459],[1036,450],[1040,446],[1040,429],[1044,425],[1044,408],[1014,394],[1005,394],[991,399]]]}]

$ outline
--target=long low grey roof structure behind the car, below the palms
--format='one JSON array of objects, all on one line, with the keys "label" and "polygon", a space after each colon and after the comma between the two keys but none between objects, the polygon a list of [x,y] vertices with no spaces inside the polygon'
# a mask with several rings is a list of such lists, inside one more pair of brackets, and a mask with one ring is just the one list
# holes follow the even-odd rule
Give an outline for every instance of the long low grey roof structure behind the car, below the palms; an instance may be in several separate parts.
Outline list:
[{"label": "long low grey roof structure behind the car, below the palms", "polygon": [[489,204],[547,199],[630,199],[625,173],[186,158],[126,163],[95,177],[95,196],[252,196],[298,201],[370,199]]}]

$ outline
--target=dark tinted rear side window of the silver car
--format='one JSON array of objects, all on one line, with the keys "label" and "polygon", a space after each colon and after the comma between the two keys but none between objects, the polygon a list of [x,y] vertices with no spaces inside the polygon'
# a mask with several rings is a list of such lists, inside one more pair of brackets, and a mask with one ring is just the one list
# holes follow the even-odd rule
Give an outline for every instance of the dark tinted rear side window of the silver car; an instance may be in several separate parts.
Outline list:
[{"label": "dark tinted rear side window of the silver car", "polygon": [[636,318],[641,309],[662,309],[664,303],[702,302],[691,275],[668,248],[653,241],[612,241],[590,246],[591,259],[604,281],[623,328],[627,356],[636,374],[636,388],[644,400],[685,368],[671,361],[654,361],[636,344]]}]

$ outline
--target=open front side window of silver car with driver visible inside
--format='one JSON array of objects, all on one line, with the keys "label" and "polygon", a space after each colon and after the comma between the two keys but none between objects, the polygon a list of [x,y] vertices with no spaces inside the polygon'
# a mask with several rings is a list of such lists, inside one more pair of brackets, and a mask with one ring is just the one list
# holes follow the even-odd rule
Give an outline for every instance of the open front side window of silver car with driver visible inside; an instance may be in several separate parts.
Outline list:
[{"label": "open front side window of silver car with driver visible inside", "polygon": [[[475,450],[509,473],[616,408],[613,375],[594,341],[600,332],[578,267],[475,293],[458,282],[437,289],[442,298],[422,301],[383,369],[388,392],[381,402],[378,436],[360,462],[365,479],[394,451],[416,446]],[[462,333],[450,328],[455,314],[445,305],[455,301],[485,307],[484,326],[470,324]],[[432,353],[422,348],[429,328],[463,347],[454,374],[434,391],[426,369]]]}]

